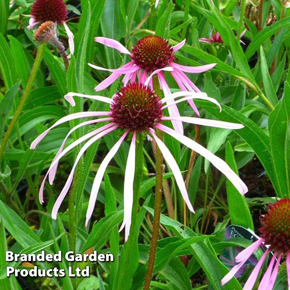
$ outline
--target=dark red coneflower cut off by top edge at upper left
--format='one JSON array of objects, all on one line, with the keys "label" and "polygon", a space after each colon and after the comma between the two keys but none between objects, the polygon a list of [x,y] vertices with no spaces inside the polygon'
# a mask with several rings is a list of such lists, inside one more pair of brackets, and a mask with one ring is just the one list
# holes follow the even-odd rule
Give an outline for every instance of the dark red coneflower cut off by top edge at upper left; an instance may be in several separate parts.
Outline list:
[{"label": "dark red coneflower cut off by top edge at upper left", "polygon": [[45,21],[63,24],[68,36],[70,54],[74,54],[74,34],[72,34],[66,24],[65,19],[67,18],[67,10],[62,0],[36,0],[32,5],[30,16],[28,29],[32,29]]}]

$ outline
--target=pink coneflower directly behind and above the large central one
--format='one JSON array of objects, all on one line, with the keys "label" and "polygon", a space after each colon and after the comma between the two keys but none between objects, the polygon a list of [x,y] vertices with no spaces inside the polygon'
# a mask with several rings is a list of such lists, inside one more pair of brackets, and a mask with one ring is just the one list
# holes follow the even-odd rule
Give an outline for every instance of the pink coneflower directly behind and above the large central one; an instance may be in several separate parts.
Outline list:
[{"label": "pink coneflower directly behind and above the large central one", "polygon": [[[89,65],[95,69],[111,71],[112,74],[95,87],[95,91],[100,91],[111,85],[120,76],[125,75],[123,79],[124,85],[128,82],[135,82],[138,80],[141,83],[146,83],[152,87],[152,77],[157,74],[161,89],[165,97],[171,94],[171,90],[164,78],[163,71],[170,71],[178,86],[183,91],[201,92],[200,89],[191,82],[191,80],[184,74],[190,72],[199,74],[212,68],[216,63],[202,65],[202,66],[185,66],[175,63],[175,52],[181,49],[185,43],[185,39],[175,46],[172,46],[167,40],[160,36],[146,36],[141,38],[136,45],[133,46],[132,52],[129,52],[125,46],[114,39],[106,37],[95,37],[96,42],[102,43],[106,46],[118,50],[120,53],[128,54],[131,61],[117,69],[106,69],[93,64]],[[146,83],[147,84],[147,83]],[[169,101],[168,105],[172,103]],[[188,100],[189,105],[199,115],[199,111],[191,99]],[[168,108],[171,116],[178,116],[179,111],[176,105]],[[182,123],[177,121],[173,122],[174,128],[182,133]]]}]

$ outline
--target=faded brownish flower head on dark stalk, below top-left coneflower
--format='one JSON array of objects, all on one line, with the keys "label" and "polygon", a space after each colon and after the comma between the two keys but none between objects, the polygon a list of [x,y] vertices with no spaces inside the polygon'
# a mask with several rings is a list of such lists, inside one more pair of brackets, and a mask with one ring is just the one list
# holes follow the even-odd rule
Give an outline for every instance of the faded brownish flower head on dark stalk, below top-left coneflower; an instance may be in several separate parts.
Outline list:
[{"label": "faded brownish flower head on dark stalk, below top-left coneflower", "polygon": [[34,39],[37,43],[50,43],[56,46],[60,56],[63,58],[65,69],[68,68],[69,62],[65,53],[65,48],[62,42],[58,39],[56,34],[57,23],[53,21],[45,21],[34,32]]}]

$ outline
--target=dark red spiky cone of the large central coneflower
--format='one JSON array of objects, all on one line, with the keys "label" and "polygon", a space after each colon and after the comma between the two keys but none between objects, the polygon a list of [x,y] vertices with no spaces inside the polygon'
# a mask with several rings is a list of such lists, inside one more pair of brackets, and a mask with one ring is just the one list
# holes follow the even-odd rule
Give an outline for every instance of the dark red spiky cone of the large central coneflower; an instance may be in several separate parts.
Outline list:
[{"label": "dark red spiky cone of the large central coneflower", "polygon": [[120,128],[141,132],[160,121],[161,108],[161,101],[151,88],[131,83],[115,94],[110,116]]}]

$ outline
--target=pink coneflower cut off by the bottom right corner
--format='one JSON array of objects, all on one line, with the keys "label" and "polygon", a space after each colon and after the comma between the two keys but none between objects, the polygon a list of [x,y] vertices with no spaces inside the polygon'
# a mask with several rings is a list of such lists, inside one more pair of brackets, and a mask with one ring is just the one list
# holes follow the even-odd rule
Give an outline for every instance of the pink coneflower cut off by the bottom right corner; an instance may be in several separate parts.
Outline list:
[{"label": "pink coneflower cut off by the bottom right corner", "polygon": [[268,246],[243,289],[251,290],[254,287],[261,267],[271,251],[274,255],[261,279],[258,290],[273,289],[282,258],[286,260],[288,287],[290,287],[290,199],[282,199],[274,205],[269,205],[267,214],[261,216],[260,233],[260,238],[254,244],[236,256],[235,261],[238,264],[223,278],[222,285],[233,278],[259,247]]}]

